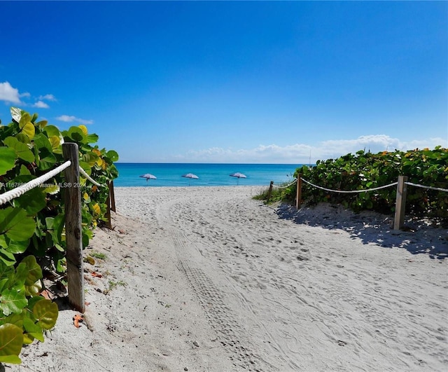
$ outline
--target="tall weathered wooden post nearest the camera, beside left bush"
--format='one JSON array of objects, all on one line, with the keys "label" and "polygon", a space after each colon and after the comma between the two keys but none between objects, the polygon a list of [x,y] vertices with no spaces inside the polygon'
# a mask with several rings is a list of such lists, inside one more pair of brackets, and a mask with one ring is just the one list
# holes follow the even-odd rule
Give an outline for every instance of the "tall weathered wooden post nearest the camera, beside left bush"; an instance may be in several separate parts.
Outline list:
[{"label": "tall weathered wooden post nearest the camera, beside left bush", "polygon": [[69,303],[76,310],[84,312],[83,230],[81,227],[78,145],[65,143],[62,145],[62,153],[65,160],[71,160],[71,166],[64,170],[65,239]]}]

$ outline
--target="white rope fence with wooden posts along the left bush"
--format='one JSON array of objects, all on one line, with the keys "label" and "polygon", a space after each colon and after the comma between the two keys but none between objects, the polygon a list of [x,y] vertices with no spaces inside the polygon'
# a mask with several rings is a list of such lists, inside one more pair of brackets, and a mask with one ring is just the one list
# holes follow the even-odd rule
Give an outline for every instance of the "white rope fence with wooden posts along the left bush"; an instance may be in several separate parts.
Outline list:
[{"label": "white rope fence with wooden posts along the left bush", "polygon": [[[22,184],[6,191],[0,195],[0,205],[10,202],[11,200],[20,197],[27,191],[30,191],[37,186],[41,186],[45,181],[48,181],[57,174],[64,172],[64,204],[65,204],[65,234],[66,234],[66,263],[67,263],[67,287],[69,292],[69,303],[73,305],[76,310],[84,312],[84,270],[83,270],[83,244],[82,244],[82,226],[81,226],[81,195],[79,174],[82,174],[88,181],[95,186],[107,187],[109,186],[109,195],[107,200],[106,217],[108,219],[107,227],[111,226],[111,209],[115,212],[115,198],[113,196],[113,182],[109,181],[108,185],[99,184],[94,181],[83,168],[79,166],[79,152],[78,145],[72,143],[62,144],[62,152],[64,160],[62,165],[59,165],[53,170],[32,179],[26,184]],[[113,207],[111,208],[111,202]]]}]

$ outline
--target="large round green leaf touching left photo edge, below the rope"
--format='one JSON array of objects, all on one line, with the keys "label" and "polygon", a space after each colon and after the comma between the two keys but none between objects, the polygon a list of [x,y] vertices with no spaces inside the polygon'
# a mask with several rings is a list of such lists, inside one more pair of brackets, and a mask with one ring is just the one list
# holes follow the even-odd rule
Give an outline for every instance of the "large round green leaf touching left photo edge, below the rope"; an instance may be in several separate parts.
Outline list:
[{"label": "large round green leaf touching left photo edge, below the rope", "polygon": [[11,240],[27,240],[34,234],[35,227],[34,219],[27,216],[25,209],[0,209],[0,235],[6,234]]}]

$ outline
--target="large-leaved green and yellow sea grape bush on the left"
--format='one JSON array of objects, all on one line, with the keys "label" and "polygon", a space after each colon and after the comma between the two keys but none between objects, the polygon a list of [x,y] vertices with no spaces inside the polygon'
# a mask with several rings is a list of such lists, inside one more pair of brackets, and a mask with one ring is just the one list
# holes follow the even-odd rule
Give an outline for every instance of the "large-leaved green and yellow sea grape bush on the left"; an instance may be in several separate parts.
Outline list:
[{"label": "large-leaved green and yellow sea grape bush on the left", "polygon": [[[62,144],[78,144],[80,167],[106,184],[118,176],[116,151],[99,149],[84,125],[60,131],[38,115],[12,107],[0,123],[0,194],[64,163]],[[20,363],[22,344],[43,341],[54,326],[57,305],[41,296],[43,270],[65,272],[64,172],[0,206],[0,362]],[[109,190],[80,179],[83,246],[102,223]]]}]

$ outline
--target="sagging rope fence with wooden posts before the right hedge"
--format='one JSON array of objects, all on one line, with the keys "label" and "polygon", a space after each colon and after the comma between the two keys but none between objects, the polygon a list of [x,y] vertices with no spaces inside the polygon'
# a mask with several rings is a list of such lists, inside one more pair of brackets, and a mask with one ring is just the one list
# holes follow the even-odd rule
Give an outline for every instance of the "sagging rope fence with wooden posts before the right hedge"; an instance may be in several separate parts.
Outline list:
[{"label": "sagging rope fence with wooden posts before the right hedge", "polygon": [[393,222],[394,230],[400,230],[400,228],[402,228],[402,225],[404,223],[406,194],[407,194],[406,186],[414,186],[414,187],[426,188],[428,190],[448,192],[448,189],[446,189],[446,188],[425,186],[425,185],[413,184],[412,182],[407,182],[407,176],[398,176],[397,182],[393,182],[392,184],[374,187],[374,188],[367,188],[367,189],[363,189],[363,190],[351,190],[351,191],[332,190],[331,188],[325,188],[322,186],[311,184],[310,181],[303,179],[301,177],[301,174],[297,174],[297,178],[293,182],[291,182],[290,184],[288,184],[286,186],[276,186],[276,185],[274,185],[274,181],[271,181],[271,183],[269,184],[269,191],[267,192],[267,200],[269,201],[269,199],[271,198],[272,188],[274,188],[274,187],[275,188],[288,188],[289,186],[291,186],[297,182],[297,195],[296,195],[296,199],[295,199],[295,207],[297,209],[299,209],[300,202],[302,199],[302,181],[305,182],[306,184],[309,184],[309,186],[312,186],[314,188],[319,188],[321,190],[328,191],[330,193],[346,193],[346,194],[367,193],[369,191],[377,191],[377,190],[381,190],[383,188],[397,186],[397,195],[396,195],[396,201],[395,201],[395,217],[394,217],[394,222]]}]

